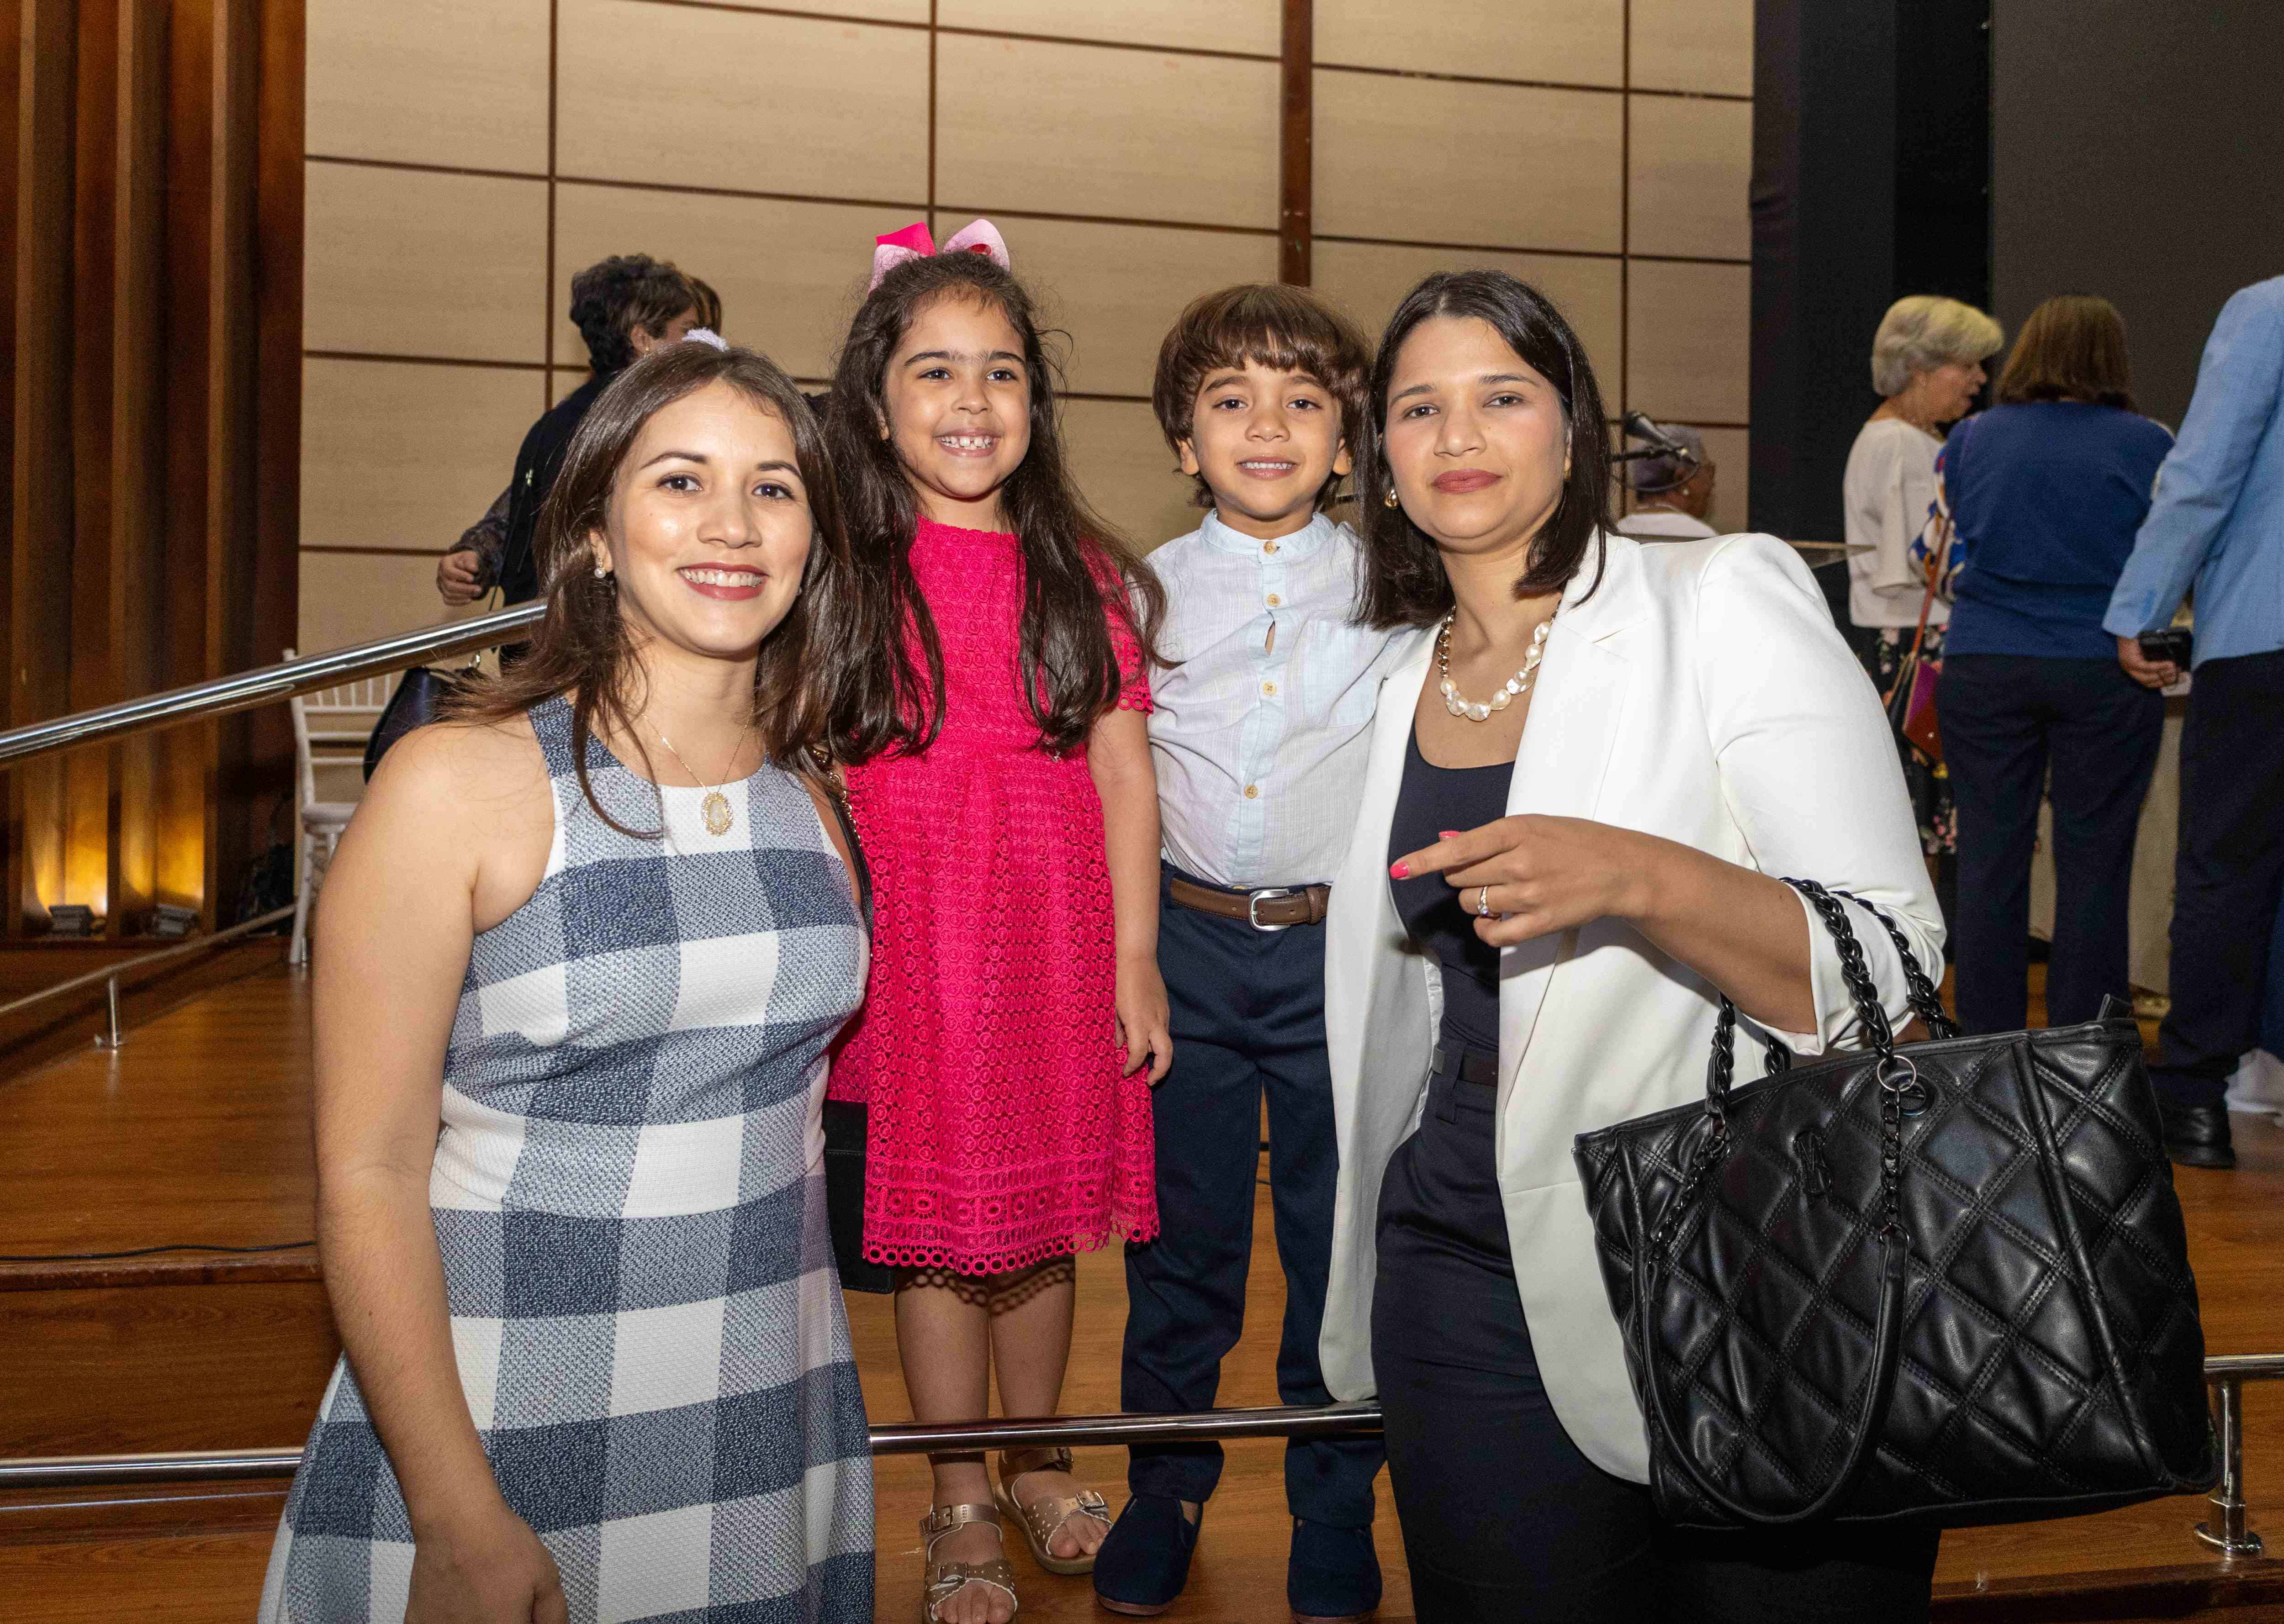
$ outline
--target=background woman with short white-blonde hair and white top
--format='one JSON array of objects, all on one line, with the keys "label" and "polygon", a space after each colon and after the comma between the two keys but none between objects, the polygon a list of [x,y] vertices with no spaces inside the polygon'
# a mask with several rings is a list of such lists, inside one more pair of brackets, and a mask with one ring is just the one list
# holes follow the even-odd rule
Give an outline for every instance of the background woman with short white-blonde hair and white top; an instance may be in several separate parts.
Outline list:
[{"label": "background woman with short white-blonde hair and white top", "polygon": [[[1983,363],[1998,354],[2005,333],[1983,311],[1957,299],[1912,295],[1896,299],[1871,340],[1871,386],[1880,409],[1871,413],[1848,452],[1841,496],[1848,509],[1848,619],[1864,669],[1884,694],[1912,646],[1928,578],[1912,562],[1912,541],[1935,505],[1935,455],[1944,450],[1941,425],[1964,418],[1983,388]],[[1928,608],[1923,653],[1941,658],[1944,621],[1951,605]],[[1953,859],[1957,838],[1951,815],[1951,783],[1935,772],[1903,735],[1903,774],[1919,815],[1919,843],[1930,859]],[[1946,898],[1951,861],[1937,873]]]}]

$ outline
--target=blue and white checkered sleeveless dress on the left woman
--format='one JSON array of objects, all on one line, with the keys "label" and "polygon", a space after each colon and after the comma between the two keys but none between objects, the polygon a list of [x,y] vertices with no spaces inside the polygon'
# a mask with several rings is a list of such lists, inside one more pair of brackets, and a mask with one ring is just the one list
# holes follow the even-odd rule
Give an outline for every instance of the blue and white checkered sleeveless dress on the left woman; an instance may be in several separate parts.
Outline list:
[{"label": "blue and white checkered sleeveless dress on the left woman", "polygon": [[[429,1179],[461,1391],[573,1624],[872,1617],[872,1466],[825,1217],[827,1044],[866,932],[809,793],[653,788],[571,708],[532,900],[475,939]],[[404,1496],[347,1359],[301,1453],[265,1624],[404,1617]]]}]

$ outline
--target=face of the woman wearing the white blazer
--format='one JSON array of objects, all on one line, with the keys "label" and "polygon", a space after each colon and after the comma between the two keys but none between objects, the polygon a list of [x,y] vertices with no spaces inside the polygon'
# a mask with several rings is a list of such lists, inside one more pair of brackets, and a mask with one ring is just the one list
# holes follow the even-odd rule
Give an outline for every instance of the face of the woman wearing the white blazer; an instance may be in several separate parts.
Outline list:
[{"label": "face of the woman wearing the white blazer", "polygon": [[1528,544],[1569,475],[1562,395],[1473,315],[1434,315],[1405,338],[1384,441],[1405,514],[1450,553]]}]

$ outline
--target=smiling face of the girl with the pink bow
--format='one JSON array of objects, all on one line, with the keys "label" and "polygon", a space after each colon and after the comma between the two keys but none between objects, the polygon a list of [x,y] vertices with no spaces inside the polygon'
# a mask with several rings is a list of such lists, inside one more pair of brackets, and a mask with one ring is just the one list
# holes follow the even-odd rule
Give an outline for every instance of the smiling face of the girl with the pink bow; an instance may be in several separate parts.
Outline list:
[{"label": "smiling face of the girl with the pink bow", "polygon": [[1000,487],[1030,450],[1030,372],[1007,315],[987,299],[930,299],[888,356],[882,397],[920,512],[1005,530]]}]

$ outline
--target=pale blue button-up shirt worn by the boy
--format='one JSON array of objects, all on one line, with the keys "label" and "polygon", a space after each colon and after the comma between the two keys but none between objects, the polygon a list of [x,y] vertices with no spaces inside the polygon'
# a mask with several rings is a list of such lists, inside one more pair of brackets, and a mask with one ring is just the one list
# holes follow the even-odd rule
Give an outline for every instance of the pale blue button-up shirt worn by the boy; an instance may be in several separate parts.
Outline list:
[{"label": "pale blue button-up shirt worn by the boy", "polygon": [[1380,678],[1418,633],[1357,626],[1357,534],[1316,514],[1256,541],[1215,516],[1165,582],[1149,742],[1165,857],[1236,891],[1327,884],[1348,852]]}]

